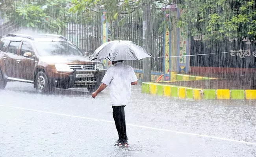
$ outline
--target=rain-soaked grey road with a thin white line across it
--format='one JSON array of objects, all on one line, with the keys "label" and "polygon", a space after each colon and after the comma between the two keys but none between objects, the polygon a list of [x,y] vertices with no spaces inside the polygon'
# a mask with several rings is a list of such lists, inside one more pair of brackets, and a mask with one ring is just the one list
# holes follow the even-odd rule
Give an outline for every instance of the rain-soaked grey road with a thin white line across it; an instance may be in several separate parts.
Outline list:
[{"label": "rain-soaked grey road with a thin white line across it", "polygon": [[117,137],[106,89],[35,93],[0,90],[0,157],[256,157],[256,102],[190,101],[141,94],[125,108],[128,148]]}]

